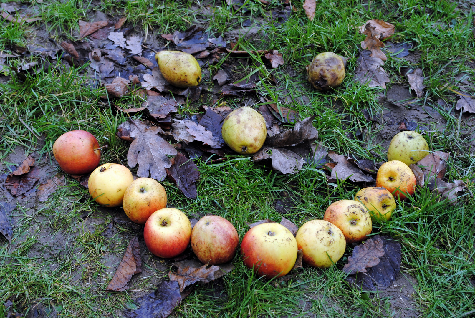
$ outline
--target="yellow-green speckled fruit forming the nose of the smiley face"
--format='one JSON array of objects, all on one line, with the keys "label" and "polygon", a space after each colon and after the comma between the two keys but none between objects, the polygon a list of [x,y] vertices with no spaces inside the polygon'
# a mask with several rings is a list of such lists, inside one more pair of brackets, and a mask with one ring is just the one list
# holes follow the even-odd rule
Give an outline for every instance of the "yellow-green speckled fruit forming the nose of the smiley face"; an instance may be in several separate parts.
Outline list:
[{"label": "yellow-green speckled fruit forming the nose of the smiley face", "polygon": [[250,107],[241,107],[226,117],[221,128],[223,140],[243,155],[256,153],[266,140],[266,120]]}]

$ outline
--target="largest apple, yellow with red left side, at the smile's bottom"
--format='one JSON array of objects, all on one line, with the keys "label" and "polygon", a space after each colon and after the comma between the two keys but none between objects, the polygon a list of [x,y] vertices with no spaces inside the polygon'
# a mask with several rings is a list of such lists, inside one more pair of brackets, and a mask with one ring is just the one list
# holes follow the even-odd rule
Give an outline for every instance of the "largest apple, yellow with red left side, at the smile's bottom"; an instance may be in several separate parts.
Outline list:
[{"label": "largest apple, yellow with red left side, at the smile's bottom", "polygon": [[297,260],[294,235],[278,223],[263,223],[252,227],[241,242],[244,265],[268,279],[285,276]]}]

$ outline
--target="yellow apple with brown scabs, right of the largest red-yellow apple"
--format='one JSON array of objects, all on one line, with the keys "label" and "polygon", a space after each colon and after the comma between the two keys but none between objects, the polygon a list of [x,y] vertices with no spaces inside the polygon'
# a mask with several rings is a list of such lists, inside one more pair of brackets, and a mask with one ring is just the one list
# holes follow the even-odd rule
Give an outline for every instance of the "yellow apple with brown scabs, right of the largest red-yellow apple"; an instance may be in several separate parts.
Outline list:
[{"label": "yellow apple with brown scabs, right of the largest red-yellow apple", "polygon": [[311,266],[328,268],[345,253],[346,241],[342,231],[324,220],[311,220],[302,225],[295,236],[302,259]]}]

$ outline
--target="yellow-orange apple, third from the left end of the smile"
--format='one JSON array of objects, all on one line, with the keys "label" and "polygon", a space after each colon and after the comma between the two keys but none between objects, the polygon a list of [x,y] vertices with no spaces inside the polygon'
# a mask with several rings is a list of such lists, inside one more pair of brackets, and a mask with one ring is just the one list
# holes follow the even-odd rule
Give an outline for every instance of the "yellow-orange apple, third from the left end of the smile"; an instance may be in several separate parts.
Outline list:
[{"label": "yellow-orange apple, third from the left end of the smile", "polygon": [[137,178],[125,190],[122,206],[129,219],[145,224],[153,212],[167,207],[167,193],[157,180]]}]

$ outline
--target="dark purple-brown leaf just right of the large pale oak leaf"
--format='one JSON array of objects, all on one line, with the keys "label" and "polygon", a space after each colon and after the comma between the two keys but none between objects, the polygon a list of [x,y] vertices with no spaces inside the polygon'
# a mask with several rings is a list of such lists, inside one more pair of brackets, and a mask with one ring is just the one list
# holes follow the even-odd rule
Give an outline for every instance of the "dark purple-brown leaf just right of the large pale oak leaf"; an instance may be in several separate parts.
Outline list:
[{"label": "dark purple-brown leaf just right of the large pale oak leaf", "polygon": [[193,160],[178,152],[175,158],[172,159],[171,167],[167,168],[167,176],[186,197],[196,199],[198,196],[196,184],[199,179],[199,170]]}]

